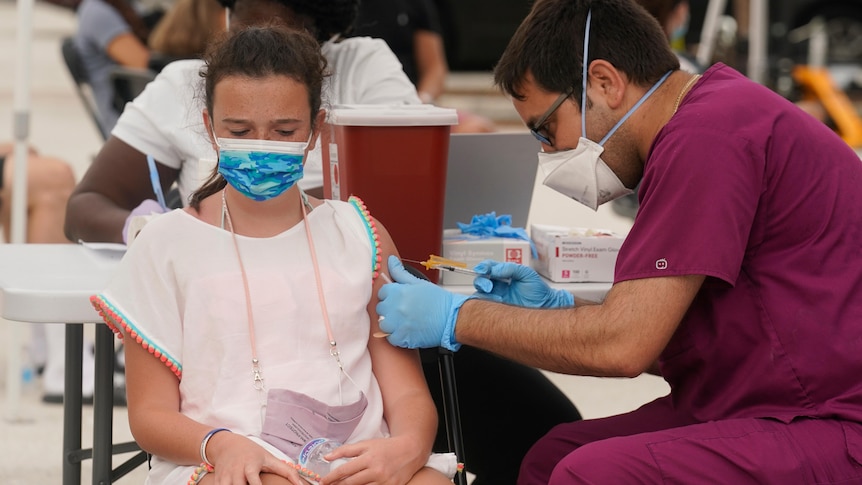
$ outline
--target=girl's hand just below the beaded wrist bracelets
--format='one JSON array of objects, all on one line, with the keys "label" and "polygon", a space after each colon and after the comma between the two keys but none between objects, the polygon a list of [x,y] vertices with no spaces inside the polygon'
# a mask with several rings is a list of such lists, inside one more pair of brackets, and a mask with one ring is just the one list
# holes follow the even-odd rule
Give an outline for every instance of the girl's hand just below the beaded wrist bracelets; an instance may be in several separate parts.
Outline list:
[{"label": "girl's hand just below the beaded wrist bracelets", "polygon": [[308,485],[295,468],[245,436],[219,433],[217,437],[221,438],[217,446],[213,446],[214,436],[207,447],[207,457],[215,466],[216,485],[262,485],[261,473],[284,477],[292,485]]}]

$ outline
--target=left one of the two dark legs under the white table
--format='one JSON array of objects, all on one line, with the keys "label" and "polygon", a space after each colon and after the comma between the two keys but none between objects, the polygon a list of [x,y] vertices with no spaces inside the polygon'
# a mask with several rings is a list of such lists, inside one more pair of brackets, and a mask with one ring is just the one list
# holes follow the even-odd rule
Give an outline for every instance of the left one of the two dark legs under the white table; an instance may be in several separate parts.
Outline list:
[{"label": "left one of the two dark legs under the white table", "polygon": [[84,325],[66,324],[63,388],[63,485],[81,485],[81,381]]}]

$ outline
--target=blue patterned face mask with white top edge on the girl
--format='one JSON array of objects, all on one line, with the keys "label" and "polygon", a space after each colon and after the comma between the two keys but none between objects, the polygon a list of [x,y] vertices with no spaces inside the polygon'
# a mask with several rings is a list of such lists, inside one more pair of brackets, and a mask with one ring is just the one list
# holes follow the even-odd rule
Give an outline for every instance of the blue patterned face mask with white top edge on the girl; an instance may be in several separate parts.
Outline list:
[{"label": "blue patterned face mask with white top edge on the girl", "polygon": [[302,178],[308,142],[217,138],[216,145],[219,173],[252,200],[278,197]]}]

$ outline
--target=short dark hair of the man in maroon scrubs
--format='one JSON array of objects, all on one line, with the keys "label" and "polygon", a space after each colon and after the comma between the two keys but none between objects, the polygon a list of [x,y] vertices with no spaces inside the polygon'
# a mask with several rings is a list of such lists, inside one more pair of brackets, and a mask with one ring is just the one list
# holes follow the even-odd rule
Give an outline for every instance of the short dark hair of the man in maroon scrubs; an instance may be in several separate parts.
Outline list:
[{"label": "short dark hair of the man in maroon scrubs", "polygon": [[551,93],[571,91],[580,106],[584,28],[592,11],[588,61],[604,59],[640,86],[651,86],[679,60],[658,22],[634,0],[537,0],[494,69],[515,99],[527,73]]}]

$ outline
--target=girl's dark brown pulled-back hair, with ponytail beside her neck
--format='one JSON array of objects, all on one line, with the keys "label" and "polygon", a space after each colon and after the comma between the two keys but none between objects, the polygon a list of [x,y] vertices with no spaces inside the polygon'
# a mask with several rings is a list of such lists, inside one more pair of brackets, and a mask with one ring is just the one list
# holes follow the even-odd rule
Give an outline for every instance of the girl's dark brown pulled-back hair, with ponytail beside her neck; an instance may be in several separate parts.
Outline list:
[{"label": "girl's dark brown pulled-back hair, with ponytail beside her neck", "polygon": [[[211,43],[204,56],[204,78],[207,111],[212,116],[216,85],[223,79],[238,76],[260,79],[287,76],[308,91],[311,129],[321,106],[321,87],[326,77],[326,58],[317,41],[308,32],[284,25],[246,27],[228,32]],[[249,93],[248,96],[254,96]],[[225,186],[225,179],[213,172],[203,186],[192,194],[189,205],[200,208],[203,199]]]}]

